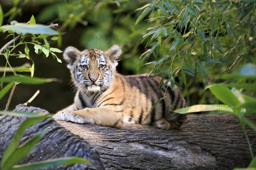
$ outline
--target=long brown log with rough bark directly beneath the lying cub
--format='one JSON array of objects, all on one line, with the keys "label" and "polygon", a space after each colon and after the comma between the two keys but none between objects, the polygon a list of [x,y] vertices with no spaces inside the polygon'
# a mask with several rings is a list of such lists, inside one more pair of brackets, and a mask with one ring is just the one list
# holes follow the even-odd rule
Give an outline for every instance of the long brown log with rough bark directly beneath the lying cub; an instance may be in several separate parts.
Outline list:
[{"label": "long brown log with rough bark directly beneath the lying cub", "polygon": [[[255,117],[251,119],[256,122]],[[106,170],[230,170],[247,167],[251,161],[246,138],[234,115],[188,115],[180,130],[58,123],[92,144]],[[250,127],[246,129],[255,155],[256,133]]]}]

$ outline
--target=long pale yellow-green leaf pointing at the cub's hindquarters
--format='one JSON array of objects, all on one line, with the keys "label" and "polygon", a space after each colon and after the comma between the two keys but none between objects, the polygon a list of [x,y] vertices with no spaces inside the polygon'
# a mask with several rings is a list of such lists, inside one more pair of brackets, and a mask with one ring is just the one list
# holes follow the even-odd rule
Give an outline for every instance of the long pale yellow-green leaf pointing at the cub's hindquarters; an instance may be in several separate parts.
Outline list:
[{"label": "long pale yellow-green leaf pointing at the cub's hindquarters", "polygon": [[227,104],[198,104],[198,105],[185,107],[182,109],[177,109],[177,110],[174,110],[173,112],[186,114],[186,113],[193,113],[193,112],[212,112],[216,110],[219,112],[233,113],[233,109],[231,109]]}]

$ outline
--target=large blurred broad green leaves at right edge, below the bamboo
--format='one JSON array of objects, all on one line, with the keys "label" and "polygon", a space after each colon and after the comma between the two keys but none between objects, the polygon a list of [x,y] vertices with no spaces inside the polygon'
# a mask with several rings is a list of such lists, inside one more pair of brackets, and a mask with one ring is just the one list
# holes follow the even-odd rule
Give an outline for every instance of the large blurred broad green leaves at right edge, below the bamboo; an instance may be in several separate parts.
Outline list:
[{"label": "large blurred broad green leaves at right edge, below the bamboo", "polygon": [[[239,86],[239,84],[243,81],[250,82],[253,81],[253,83],[243,83],[243,86],[256,86],[256,72],[254,69],[256,68],[256,64],[246,64],[244,66],[241,66],[237,70],[235,70],[230,75],[227,75],[227,78],[233,79],[236,78],[236,86]],[[251,72],[253,70],[254,72]],[[245,131],[244,126],[247,124],[249,127],[251,127],[254,131],[256,131],[256,124],[251,122],[245,115],[256,115],[256,98],[252,98],[248,95],[243,94],[241,91],[243,89],[236,89],[233,87],[231,90],[227,87],[227,85],[233,85],[234,83],[225,83],[225,84],[212,84],[207,86],[207,89],[209,88],[212,94],[218,98],[224,105],[219,104],[209,104],[209,105],[194,105],[182,109],[177,109],[174,112],[185,114],[185,113],[191,113],[191,112],[204,112],[204,111],[214,111],[218,110],[219,112],[228,112],[235,114],[239,120],[240,124],[244,130],[244,135],[247,139],[247,143],[249,145],[250,154],[253,159],[253,152],[251,148],[251,144],[249,141],[249,138],[247,137],[247,133]],[[255,92],[255,88],[252,89]]]}]

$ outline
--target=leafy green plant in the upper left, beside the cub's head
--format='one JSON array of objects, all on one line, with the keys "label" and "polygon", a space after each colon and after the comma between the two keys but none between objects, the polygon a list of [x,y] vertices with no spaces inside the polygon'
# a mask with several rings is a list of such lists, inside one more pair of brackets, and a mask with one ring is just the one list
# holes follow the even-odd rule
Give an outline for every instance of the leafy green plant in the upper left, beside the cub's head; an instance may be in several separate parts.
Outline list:
[{"label": "leafy green plant in the upper left, beside the cub's head", "polygon": [[[3,83],[5,82],[18,81],[24,84],[42,84],[46,82],[55,81],[55,79],[33,78],[35,71],[35,63],[32,60],[32,57],[29,55],[30,50],[28,46],[34,46],[36,54],[38,54],[38,52],[43,52],[46,55],[46,57],[48,57],[49,53],[51,53],[51,55],[54,58],[56,58],[58,62],[61,63],[61,60],[57,57],[57,55],[55,55],[55,52],[60,53],[62,51],[50,47],[48,42],[49,35],[58,35],[58,32],[56,30],[50,28],[49,26],[36,24],[35,17],[32,15],[32,17],[29,20],[29,23],[18,23],[17,21],[14,20],[11,22],[11,25],[1,26],[0,31],[9,32],[9,35],[7,37],[13,37],[13,39],[10,41],[11,43],[9,42],[7,46],[3,46],[0,52],[0,55],[3,55],[6,58],[6,65],[4,68],[2,68],[4,70],[3,76],[2,78],[0,78],[0,98],[2,98],[8,92],[8,90],[11,89],[10,85],[3,88]],[[31,39],[27,40],[28,37]],[[21,45],[24,45],[24,52],[15,52],[15,49]],[[32,65],[30,63],[25,63],[22,66],[13,68],[11,66],[11,63],[9,63],[10,57],[26,58],[32,62]],[[6,72],[12,72],[14,76],[6,77]],[[17,72],[30,72],[31,78],[19,75],[17,74]]]}]

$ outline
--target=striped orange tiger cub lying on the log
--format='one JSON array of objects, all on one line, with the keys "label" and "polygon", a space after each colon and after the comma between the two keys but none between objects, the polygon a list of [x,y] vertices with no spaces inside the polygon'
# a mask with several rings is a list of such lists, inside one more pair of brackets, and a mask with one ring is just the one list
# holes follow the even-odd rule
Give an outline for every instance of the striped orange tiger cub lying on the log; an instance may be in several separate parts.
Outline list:
[{"label": "striped orange tiger cub lying on the log", "polygon": [[172,112],[186,106],[180,89],[175,86],[172,91],[170,84],[159,89],[161,78],[157,76],[120,75],[116,66],[121,53],[118,45],[106,52],[67,47],[63,56],[77,92],[74,103],[53,118],[116,128],[123,124],[154,124],[166,130],[180,127],[186,115]]}]

